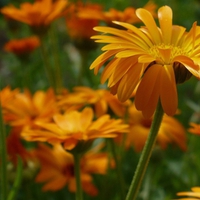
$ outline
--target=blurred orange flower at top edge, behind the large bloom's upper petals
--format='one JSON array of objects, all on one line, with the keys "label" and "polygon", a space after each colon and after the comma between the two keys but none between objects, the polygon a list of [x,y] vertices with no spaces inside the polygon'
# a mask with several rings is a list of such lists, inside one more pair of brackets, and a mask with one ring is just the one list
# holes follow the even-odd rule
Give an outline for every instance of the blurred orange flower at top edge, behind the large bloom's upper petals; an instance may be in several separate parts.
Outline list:
[{"label": "blurred orange flower at top edge, behind the large bloom's upper petals", "polygon": [[[156,5],[149,1],[144,8],[155,16]],[[137,23],[140,19],[135,14],[136,9],[134,7],[128,7],[124,11],[119,11],[114,8],[109,9],[109,11],[102,12],[101,10],[87,9],[81,10],[79,16],[86,19],[99,19],[105,21],[109,26],[113,26],[112,21],[120,21],[127,23]]]}]

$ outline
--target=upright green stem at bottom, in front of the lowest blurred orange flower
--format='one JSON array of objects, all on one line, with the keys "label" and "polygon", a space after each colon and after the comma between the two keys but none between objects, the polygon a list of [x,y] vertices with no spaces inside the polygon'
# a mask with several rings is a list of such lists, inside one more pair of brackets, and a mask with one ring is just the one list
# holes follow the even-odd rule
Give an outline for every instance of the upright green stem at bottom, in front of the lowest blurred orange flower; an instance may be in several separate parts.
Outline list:
[{"label": "upright green stem at bottom, in front of the lowest blurred orange flower", "polygon": [[74,152],[74,170],[76,177],[76,200],[83,200],[82,186],[81,186],[81,174],[80,174],[80,154]]}]

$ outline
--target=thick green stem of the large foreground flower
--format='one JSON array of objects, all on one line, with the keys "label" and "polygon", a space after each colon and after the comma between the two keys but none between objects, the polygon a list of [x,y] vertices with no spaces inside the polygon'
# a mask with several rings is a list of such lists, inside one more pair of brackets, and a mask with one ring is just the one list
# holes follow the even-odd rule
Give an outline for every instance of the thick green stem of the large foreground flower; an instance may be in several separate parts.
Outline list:
[{"label": "thick green stem of the large foreground flower", "polygon": [[144,177],[144,174],[146,172],[146,169],[149,163],[149,159],[152,154],[152,150],[156,141],[160,124],[162,122],[163,114],[164,112],[162,109],[162,105],[159,101],[155,115],[154,115],[154,119],[151,125],[150,133],[148,135],[147,141],[145,143],[142,154],[140,156],[140,160],[138,162],[135,175],[133,176],[133,180],[131,182],[128,194],[126,196],[126,200],[135,200],[137,197],[138,191],[140,189],[140,185],[142,183],[142,179]]}]

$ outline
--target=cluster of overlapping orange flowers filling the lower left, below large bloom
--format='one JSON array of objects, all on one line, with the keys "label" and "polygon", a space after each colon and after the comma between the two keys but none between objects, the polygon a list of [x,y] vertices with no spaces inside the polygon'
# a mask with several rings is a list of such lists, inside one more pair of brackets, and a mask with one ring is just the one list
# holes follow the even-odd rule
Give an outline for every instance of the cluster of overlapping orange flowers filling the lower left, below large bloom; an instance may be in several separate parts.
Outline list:
[{"label": "cluster of overlapping orange flowers filling the lower left, below large bloom", "polygon": [[[87,152],[93,146],[93,141],[97,138],[116,138],[116,144],[119,145],[125,137],[125,147],[133,147],[139,152],[144,146],[152,122],[152,119],[145,119],[135,109],[134,103],[121,103],[105,89],[77,87],[73,92],[64,91],[60,95],[49,89],[32,95],[28,90],[20,92],[6,87],[0,95],[5,123],[12,127],[7,138],[9,159],[14,164],[17,162],[17,155],[25,163],[37,159],[41,170],[36,181],[46,183],[44,190],[57,190],[68,184],[69,190],[75,191],[74,174],[70,172],[73,170],[70,151],[81,149],[82,152],[86,151],[81,161],[83,166],[90,165],[88,162],[93,163],[93,159],[98,158],[94,163],[98,168],[81,168],[83,189],[91,195],[97,194],[97,189],[92,186],[92,178],[88,182],[88,179],[84,181],[84,174],[105,174],[109,166],[107,153],[97,150]],[[118,119],[111,118],[112,115],[118,116]],[[28,151],[21,140],[37,142],[38,147]],[[52,148],[40,142],[47,142]],[[186,150],[183,126],[175,118],[164,116],[157,142],[163,149],[168,144],[176,144]],[[104,164],[100,164],[101,162]],[[54,172],[50,173],[49,170]],[[55,184],[57,182],[59,184]],[[88,184],[90,187],[86,187]]]}]

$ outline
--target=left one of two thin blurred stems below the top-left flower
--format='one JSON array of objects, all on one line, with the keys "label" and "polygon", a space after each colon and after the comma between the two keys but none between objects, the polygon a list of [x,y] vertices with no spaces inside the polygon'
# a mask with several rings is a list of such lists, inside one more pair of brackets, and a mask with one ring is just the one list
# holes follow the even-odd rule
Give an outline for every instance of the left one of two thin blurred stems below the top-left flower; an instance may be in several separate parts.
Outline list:
[{"label": "left one of two thin blurred stems below the top-left flower", "polygon": [[52,71],[51,66],[49,64],[49,60],[48,60],[48,56],[47,56],[47,50],[46,50],[46,47],[45,47],[45,42],[44,42],[42,37],[40,38],[40,42],[41,42],[40,49],[41,49],[41,54],[42,54],[42,58],[43,58],[43,62],[44,62],[45,72],[46,72],[47,78],[49,80],[50,86],[53,87],[54,90],[56,91],[53,71]]}]

